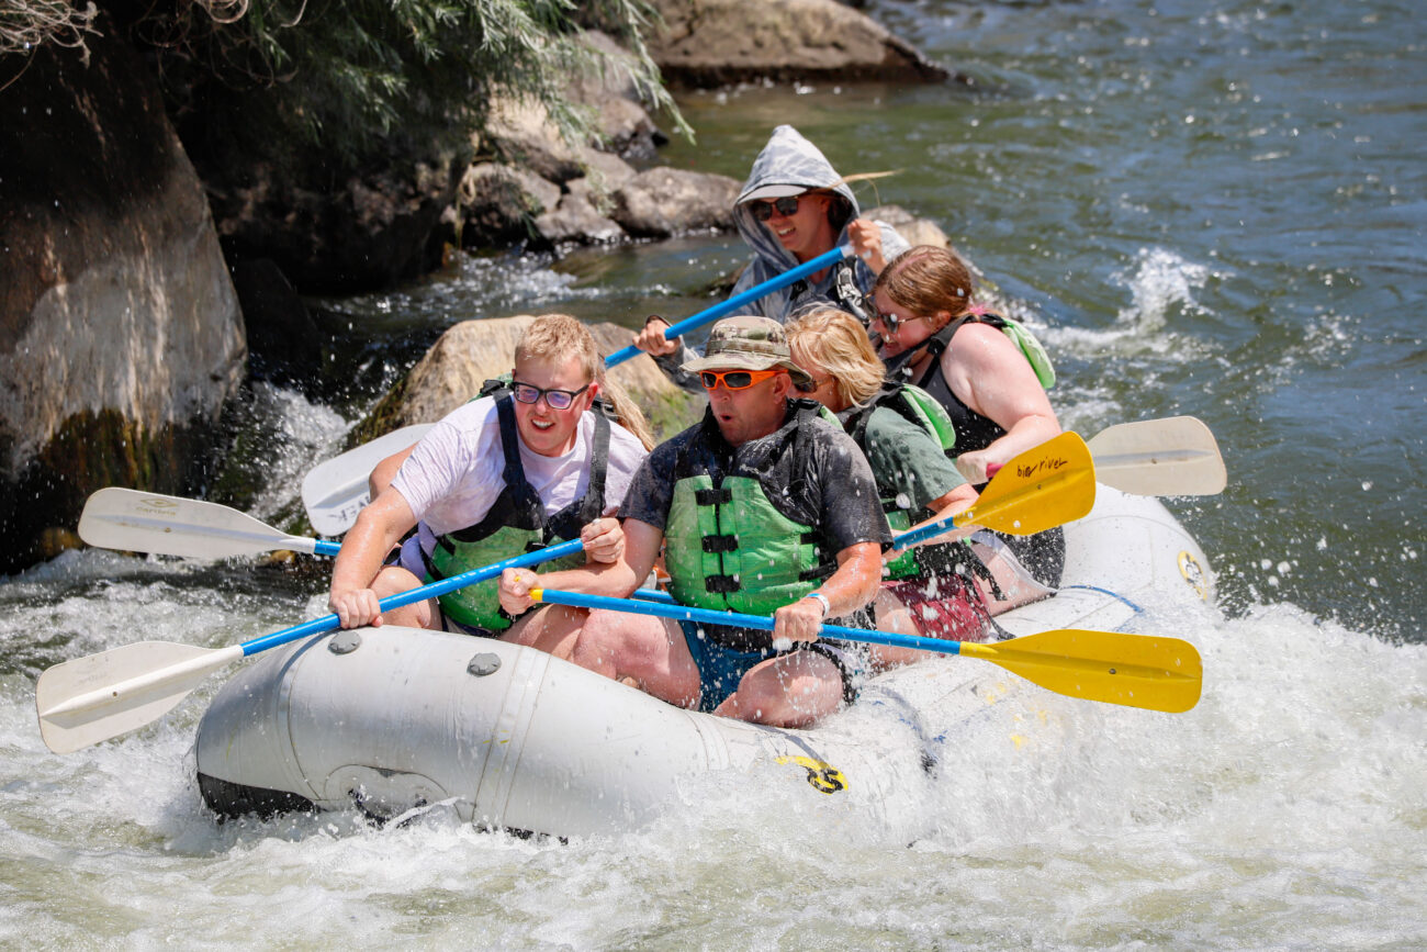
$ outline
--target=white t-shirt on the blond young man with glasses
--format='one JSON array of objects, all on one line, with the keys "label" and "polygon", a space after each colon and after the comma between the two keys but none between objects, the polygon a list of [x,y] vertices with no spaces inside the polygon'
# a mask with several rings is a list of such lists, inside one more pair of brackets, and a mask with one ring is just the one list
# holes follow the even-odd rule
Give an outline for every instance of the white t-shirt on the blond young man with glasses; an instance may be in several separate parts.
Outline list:
[{"label": "white t-shirt on the blond young man with glasses", "polygon": [[[585,494],[595,434],[586,411],[575,431],[575,445],[559,457],[542,457],[519,441],[525,480],[555,515]],[[606,512],[619,507],[635,470],[648,452],[624,427],[609,424],[609,465],[605,470]],[[435,538],[485,518],[505,488],[505,454],[494,397],[465,402],[431,428],[415,445],[391,485],[421,524],[421,548],[431,554]]]}]

